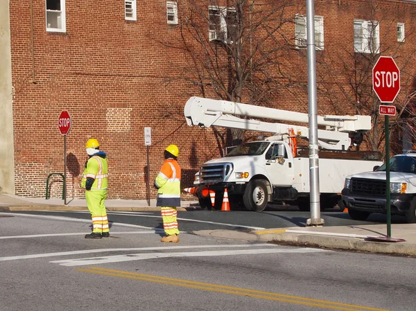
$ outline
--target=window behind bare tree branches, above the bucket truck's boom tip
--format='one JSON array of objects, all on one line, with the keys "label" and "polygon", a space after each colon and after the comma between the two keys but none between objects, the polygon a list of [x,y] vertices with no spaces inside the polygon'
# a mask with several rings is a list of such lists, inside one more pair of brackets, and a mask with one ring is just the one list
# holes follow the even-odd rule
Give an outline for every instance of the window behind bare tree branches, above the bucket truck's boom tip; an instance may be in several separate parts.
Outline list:
[{"label": "window behind bare tree branches, above the bucket truck's boom tip", "polygon": [[[237,20],[235,8],[209,6],[209,41],[232,43],[236,39]],[[233,39],[234,38],[234,39]]]}]

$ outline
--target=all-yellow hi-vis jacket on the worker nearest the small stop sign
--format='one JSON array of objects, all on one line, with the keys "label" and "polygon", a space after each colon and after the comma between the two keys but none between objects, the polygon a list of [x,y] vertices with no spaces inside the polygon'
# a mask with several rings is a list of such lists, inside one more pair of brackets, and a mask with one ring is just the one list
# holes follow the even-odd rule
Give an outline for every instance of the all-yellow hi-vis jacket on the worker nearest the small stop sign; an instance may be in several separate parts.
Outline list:
[{"label": "all-yellow hi-vis jacket on the worker nearest the small stop sign", "polygon": [[[103,154],[103,157],[100,155]],[[81,180],[81,187],[85,188],[87,178],[94,179],[92,190],[106,190],[107,189],[107,173],[108,162],[105,157],[105,152],[98,152],[90,157],[87,161],[87,167],[83,172],[83,179]]]}]

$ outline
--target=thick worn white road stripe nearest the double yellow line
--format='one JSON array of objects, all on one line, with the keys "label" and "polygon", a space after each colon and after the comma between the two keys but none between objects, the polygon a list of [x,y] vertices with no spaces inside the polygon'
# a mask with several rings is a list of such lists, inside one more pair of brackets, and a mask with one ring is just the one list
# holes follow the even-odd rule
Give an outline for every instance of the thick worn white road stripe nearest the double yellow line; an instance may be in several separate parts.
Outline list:
[{"label": "thick worn white road stripe nearest the double yellow line", "polygon": [[288,254],[288,253],[318,253],[327,251],[324,249],[232,249],[225,251],[192,251],[178,253],[144,253],[144,254],[126,254],[105,257],[90,257],[68,260],[56,260],[50,263],[58,263],[59,265],[73,267],[80,265],[101,265],[103,263],[121,263],[124,261],[144,260],[152,258],[164,257],[200,257],[200,256],[236,256],[236,255],[253,255],[253,254]]}]

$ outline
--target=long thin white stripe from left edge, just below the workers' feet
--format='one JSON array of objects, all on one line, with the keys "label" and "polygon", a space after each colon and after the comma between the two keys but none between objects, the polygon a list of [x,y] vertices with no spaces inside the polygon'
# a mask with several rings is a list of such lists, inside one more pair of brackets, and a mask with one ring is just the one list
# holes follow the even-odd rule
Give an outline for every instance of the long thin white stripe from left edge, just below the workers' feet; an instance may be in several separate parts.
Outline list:
[{"label": "long thin white stripe from left edge, just below the workers' feet", "polygon": [[202,248],[225,248],[225,247],[276,247],[271,244],[241,244],[241,245],[178,245],[178,246],[162,246],[162,247],[134,247],[134,248],[119,248],[119,249],[85,249],[83,251],[62,251],[60,253],[47,253],[47,254],[33,254],[22,256],[9,256],[0,257],[0,261],[18,260],[18,259],[33,259],[33,258],[45,258],[55,256],[69,256],[77,254],[93,254],[93,253],[105,253],[109,251],[160,251],[166,249],[202,249]]}]

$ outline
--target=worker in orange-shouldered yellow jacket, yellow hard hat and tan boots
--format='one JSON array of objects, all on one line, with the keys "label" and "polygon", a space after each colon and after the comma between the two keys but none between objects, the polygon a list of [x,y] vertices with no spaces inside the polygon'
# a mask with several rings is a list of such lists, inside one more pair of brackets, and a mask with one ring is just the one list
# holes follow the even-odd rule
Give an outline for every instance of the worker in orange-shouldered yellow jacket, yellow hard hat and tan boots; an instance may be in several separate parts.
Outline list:
[{"label": "worker in orange-shouldered yellow jacket, yellow hard hat and tan boots", "polygon": [[177,211],[180,206],[180,166],[176,159],[179,149],[176,145],[168,145],[164,150],[164,163],[155,179],[157,188],[157,206],[161,206],[163,229],[166,236],[162,242],[179,242],[177,229]]}]

